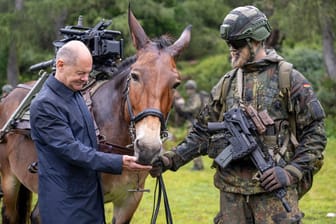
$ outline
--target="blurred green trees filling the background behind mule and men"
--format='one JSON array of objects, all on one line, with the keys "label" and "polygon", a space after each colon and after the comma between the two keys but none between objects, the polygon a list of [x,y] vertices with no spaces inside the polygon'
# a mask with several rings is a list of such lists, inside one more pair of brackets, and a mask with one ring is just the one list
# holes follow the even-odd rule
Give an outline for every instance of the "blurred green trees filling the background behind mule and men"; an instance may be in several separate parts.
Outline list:
[{"label": "blurred green trees filling the background behind mule and men", "polygon": [[[234,0],[131,0],[130,2],[150,37],[156,37],[159,33],[165,32],[171,36],[177,36],[187,24],[193,25],[191,44],[182,59],[192,61],[190,66],[193,67],[200,64],[211,66],[211,68],[199,68],[196,74],[188,74],[202,75],[200,80],[196,79],[197,81],[211,79],[214,75],[211,72],[219,71],[213,67],[222,66],[215,63],[201,63],[203,60],[211,57],[216,58],[213,60],[216,63],[227,60],[225,57],[218,58],[218,55],[223,55],[228,50],[219,37],[219,25],[224,15],[231,9],[246,4],[254,4],[262,9],[269,17],[273,29],[279,31],[280,38],[286,37],[282,39],[283,49],[304,45],[317,51],[323,50],[325,71],[331,79],[336,80],[333,46],[335,42],[333,30],[336,25],[333,15],[336,4],[332,0],[255,0],[252,2],[247,0],[239,2]],[[122,32],[125,40],[125,55],[131,55],[134,49],[129,42],[127,7],[128,1],[120,0],[0,0],[1,80],[6,79],[4,76],[6,73],[10,77],[20,74],[20,82],[36,78],[36,74],[27,72],[29,66],[54,56],[52,42],[61,38],[59,29],[65,25],[75,25],[79,15],[84,17],[84,26],[89,27],[102,18],[112,19],[112,25],[109,28]],[[10,40],[14,40],[16,44],[10,44]],[[11,79],[10,77],[8,80]],[[211,84],[213,83],[204,83],[209,85],[208,88]]]}]

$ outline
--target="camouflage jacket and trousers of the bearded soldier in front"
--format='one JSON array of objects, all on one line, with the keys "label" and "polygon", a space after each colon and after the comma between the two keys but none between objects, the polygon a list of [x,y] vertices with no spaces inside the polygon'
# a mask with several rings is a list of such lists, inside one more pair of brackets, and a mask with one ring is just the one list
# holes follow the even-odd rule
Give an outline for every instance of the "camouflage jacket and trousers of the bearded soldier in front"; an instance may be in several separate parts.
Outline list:
[{"label": "camouflage jacket and trousers of the bearded soldier in front", "polygon": [[[248,63],[242,68],[244,77],[242,100],[245,104],[253,105],[258,111],[267,109],[275,121],[276,130],[271,136],[261,136],[263,142],[271,155],[276,155],[279,148],[288,143],[287,150],[282,155],[285,164],[278,165],[294,172],[301,179],[305,174],[312,176],[322,166],[326,145],[323,123],[325,114],[310,83],[295,69],[290,76],[289,102],[280,94],[278,75],[280,60],[282,58],[275,51],[271,51],[263,60]],[[210,102],[197,117],[192,131],[181,144],[167,153],[173,162],[172,170],[177,170],[199,155],[208,154],[209,157],[215,158],[228,145],[225,134],[221,137],[211,137],[206,130],[207,122],[220,120],[224,104],[226,105],[224,111],[239,105],[235,71],[226,74],[212,89]],[[234,77],[226,99],[222,99],[224,79],[230,75]],[[288,105],[293,106],[295,113],[296,137],[299,142],[296,148],[292,142],[285,142],[285,139],[289,139],[290,133]],[[296,184],[286,189],[286,198],[292,207],[292,212],[287,213],[280,200],[272,193],[265,192],[259,181],[253,178],[257,169],[249,158],[231,161],[225,170],[216,163],[213,167],[216,168],[214,184],[221,192],[221,209],[215,218],[215,223],[258,223],[259,218],[268,220],[267,223],[299,223],[303,214],[298,208]],[[249,219],[253,221],[248,222]]]}]

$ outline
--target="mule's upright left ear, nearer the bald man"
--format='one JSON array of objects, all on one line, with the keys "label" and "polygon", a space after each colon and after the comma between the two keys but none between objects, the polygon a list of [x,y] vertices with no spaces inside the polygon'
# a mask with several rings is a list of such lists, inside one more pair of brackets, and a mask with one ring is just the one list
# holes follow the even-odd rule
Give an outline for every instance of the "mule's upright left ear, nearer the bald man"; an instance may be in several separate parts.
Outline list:
[{"label": "mule's upright left ear, nearer the bald man", "polygon": [[150,40],[138,20],[133,15],[131,4],[128,5],[128,26],[134,47],[137,50],[143,48]]}]

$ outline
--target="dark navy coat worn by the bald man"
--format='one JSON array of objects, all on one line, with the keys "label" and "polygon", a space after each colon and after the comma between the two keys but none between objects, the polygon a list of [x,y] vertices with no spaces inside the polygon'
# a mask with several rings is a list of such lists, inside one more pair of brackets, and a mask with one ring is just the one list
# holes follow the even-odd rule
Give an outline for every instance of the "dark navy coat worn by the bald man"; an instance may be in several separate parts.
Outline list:
[{"label": "dark navy coat worn by the bald man", "polygon": [[42,223],[105,223],[98,171],[121,174],[122,156],[98,152],[93,121],[53,75],[30,107]]}]

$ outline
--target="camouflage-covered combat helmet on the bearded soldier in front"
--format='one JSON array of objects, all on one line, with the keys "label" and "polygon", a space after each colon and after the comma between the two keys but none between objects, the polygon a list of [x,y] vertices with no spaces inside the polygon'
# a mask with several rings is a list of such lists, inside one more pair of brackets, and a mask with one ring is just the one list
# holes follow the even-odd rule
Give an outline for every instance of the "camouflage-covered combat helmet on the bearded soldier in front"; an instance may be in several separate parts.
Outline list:
[{"label": "camouflage-covered combat helmet on the bearded soldier in front", "polygon": [[233,9],[220,26],[221,37],[226,41],[265,40],[271,33],[267,17],[254,6]]}]

